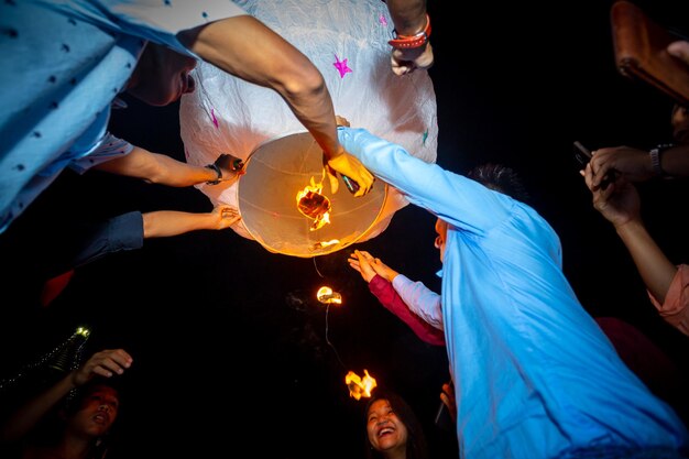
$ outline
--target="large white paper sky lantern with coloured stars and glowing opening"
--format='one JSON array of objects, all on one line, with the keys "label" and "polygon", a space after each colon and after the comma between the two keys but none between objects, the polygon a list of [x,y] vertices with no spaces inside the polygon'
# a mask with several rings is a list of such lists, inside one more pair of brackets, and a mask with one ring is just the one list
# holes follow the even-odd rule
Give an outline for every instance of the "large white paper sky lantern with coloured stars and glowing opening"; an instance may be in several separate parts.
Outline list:
[{"label": "large white paper sky lantern with coloured stars and glowing opening", "polygon": [[[336,113],[352,128],[436,161],[433,83],[423,70],[393,74],[387,44],[393,22],[384,2],[238,3],[318,67]],[[275,91],[204,62],[192,75],[196,90],[183,96],[179,109],[186,160],[206,165],[229,153],[244,161],[245,173],[237,179],[197,186],[214,205],[239,209],[242,219],[232,226],[238,234],[271,252],[311,258],[380,234],[408,204],[380,179],[363,197],[348,193],[341,178],[332,193],[322,151]]]}]

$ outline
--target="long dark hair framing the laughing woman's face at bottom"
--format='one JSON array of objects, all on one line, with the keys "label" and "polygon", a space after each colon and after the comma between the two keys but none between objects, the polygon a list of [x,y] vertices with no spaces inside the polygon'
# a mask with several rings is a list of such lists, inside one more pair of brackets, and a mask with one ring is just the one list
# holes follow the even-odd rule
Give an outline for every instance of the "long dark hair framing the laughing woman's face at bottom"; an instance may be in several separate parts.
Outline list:
[{"label": "long dark hair framing the laughing woman's face at bottom", "polygon": [[369,422],[369,409],[371,408],[373,402],[376,402],[379,400],[386,400],[387,403],[390,403],[392,409],[395,412],[395,415],[400,418],[400,420],[404,423],[405,427],[407,428],[407,459],[428,459],[428,444],[426,442],[426,436],[424,435],[422,424],[418,422],[418,418],[414,414],[412,407],[396,393],[390,390],[382,390],[380,387],[373,392],[371,400],[369,400],[363,411],[365,457],[369,459],[383,457],[371,446],[371,441],[369,440],[369,431],[367,429],[367,425]]}]

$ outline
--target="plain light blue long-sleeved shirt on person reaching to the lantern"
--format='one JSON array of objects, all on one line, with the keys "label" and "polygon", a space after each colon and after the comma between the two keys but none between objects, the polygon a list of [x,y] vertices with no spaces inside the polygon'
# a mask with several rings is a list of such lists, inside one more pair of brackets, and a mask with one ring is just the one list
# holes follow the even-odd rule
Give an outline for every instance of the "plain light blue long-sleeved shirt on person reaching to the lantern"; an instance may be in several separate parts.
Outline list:
[{"label": "plain light blue long-sleeved shirt on person reaching to the lantern", "polygon": [[559,238],[533,208],[363,129],[338,134],[375,176],[449,223],[441,312],[462,457],[689,445],[679,417],[580,305]]}]

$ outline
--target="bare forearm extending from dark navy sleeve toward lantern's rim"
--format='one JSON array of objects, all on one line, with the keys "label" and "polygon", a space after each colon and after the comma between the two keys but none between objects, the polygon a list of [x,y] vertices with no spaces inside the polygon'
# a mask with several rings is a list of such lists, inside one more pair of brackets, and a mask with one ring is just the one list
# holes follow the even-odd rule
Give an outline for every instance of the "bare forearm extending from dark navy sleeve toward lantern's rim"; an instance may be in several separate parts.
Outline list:
[{"label": "bare forearm extending from dark navy sleeve toward lantern's rim", "polygon": [[143,215],[143,237],[165,238],[203,229],[217,229],[218,217],[212,212],[157,210]]}]

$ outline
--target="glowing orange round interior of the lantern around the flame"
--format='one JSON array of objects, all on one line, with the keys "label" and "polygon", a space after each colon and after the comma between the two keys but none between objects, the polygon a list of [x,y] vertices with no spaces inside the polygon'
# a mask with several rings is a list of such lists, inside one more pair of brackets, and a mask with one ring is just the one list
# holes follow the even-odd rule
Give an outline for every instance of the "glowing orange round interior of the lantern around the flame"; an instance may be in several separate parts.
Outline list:
[{"label": "glowing orange round interior of the lantern around the flame", "polygon": [[322,150],[308,132],[259,145],[245,171],[238,183],[242,222],[272,252],[310,258],[340,250],[369,230],[385,203],[386,185],[380,181],[354,198],[339,178],[340,189],[332,194]]}]

